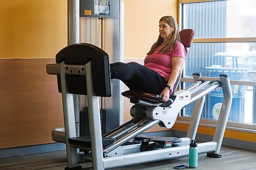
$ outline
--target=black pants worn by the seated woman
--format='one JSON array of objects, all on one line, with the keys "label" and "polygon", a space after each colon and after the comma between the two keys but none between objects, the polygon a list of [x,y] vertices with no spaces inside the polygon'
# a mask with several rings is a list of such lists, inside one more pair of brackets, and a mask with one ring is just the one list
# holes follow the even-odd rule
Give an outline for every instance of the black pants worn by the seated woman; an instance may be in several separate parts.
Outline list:
[{"label": "black pants worn by the seated woman", "polygon": [[110,64],[111,79],[121,80],[131,90],[160,94],[167,81],[156,71],[136,62]]}]

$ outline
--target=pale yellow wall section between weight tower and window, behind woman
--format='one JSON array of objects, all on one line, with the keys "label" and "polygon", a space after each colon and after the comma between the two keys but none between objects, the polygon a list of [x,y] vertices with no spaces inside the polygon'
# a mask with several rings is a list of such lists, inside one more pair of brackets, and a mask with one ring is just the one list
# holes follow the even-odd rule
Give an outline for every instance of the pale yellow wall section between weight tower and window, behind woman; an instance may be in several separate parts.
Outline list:
[{"label": "pale yellow wall section between weight tower and window, behind woman", "polygon": [[159,19],[165,15],[177,18],[177,0],[123,0],[124,58],[145,58],[156,42]]}]

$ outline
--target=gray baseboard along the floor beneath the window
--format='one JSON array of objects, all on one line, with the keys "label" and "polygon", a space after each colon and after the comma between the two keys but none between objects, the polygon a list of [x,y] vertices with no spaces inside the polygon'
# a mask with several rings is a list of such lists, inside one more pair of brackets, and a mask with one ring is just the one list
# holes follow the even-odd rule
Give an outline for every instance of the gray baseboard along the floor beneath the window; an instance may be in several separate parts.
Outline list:
[{"label": "gray baseboard along the floor beneath the window", "polygon": [[[187,135],[187,132],[179,131],[179,130],[172,130],[172,135],[175,137],[185,137]],[[212,135],[205,135],[205,134],[200,134],[200,133],[198,133],[196,135],[196,140],[203,141],[203,142],[212,141],[213,138],[214,138],[214,136],[212,136]],[[251,142],[251,141],[245,141],[245,140],[224,137],[223,141],[222,141],[222,145],[256,151],[256,142]]]}]

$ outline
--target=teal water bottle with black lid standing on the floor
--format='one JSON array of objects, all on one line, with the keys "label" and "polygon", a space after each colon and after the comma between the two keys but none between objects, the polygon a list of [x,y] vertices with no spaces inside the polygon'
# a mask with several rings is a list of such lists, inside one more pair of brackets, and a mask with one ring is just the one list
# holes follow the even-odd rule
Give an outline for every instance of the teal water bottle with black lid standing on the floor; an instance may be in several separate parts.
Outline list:
[{"label": "teal water bottle with black lid standing on the floor", "polygon": [[189,156],[188,156],[188,165],[191,168],[197,167],[198,163],[198,148],[197,148],[197,141],[191,140],[191,143],[189,145]]}]

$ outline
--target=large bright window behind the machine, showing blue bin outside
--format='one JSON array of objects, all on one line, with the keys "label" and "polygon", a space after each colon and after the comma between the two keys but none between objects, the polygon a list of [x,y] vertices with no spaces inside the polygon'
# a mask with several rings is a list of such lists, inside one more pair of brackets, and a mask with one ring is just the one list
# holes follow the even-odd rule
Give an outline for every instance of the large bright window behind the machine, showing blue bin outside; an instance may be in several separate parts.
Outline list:
[{"label": "large bright window behind the machine, showing blue bin outside", "polygon": [[[229,124],[247,124],[256,129],[256,6],[254,0],[201,1],[179,0],[179,26],[196,32],[186,58],[184,77],[194,72],[202,76],[218,77],[227,72],[232,83],[233,102]],[[183,81],[191,79],[183,78]],[[183,87],[191,83],[185,82]],[[222,98],[216,89],[206,95],[202,113],[207,123],[218,118]],[[255,101],[255,102],[254,102]],[[179,119],[186,120],[193,113],[188,105]],[[212,122],[213,123],[213,122]]]}]

